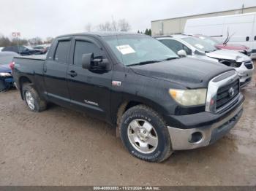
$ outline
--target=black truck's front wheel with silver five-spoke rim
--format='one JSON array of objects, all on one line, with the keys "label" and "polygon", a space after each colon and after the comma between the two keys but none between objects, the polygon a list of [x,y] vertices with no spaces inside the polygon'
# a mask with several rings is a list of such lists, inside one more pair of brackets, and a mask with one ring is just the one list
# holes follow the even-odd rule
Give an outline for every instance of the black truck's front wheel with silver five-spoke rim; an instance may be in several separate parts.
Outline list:
[{"label": "black truck's front wheel with silver five-spoke rim", "polygon": [[135,157],[160,163],[172,153],[165,121],[148,106],[134,106],[121,118],[121,141]]}]

